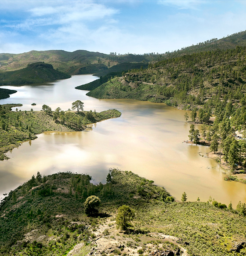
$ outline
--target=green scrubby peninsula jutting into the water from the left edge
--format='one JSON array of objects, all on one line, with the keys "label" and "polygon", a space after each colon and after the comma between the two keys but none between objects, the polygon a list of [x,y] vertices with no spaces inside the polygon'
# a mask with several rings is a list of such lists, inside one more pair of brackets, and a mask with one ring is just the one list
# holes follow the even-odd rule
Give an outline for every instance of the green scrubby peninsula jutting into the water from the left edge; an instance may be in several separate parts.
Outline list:
[{"label": "green scrubby peninsula jutting into the water from the left edge", "polygon": [[26,140],[36,138],[44,131],[81,131],[86,124],[96,123],[108,118],[120,117],[118,110],[63,111],[43,105],[43,111],[11,111],[11,107],[21,104],[0,105],[0,160],[6,159],[4,153],[20,146]]}]

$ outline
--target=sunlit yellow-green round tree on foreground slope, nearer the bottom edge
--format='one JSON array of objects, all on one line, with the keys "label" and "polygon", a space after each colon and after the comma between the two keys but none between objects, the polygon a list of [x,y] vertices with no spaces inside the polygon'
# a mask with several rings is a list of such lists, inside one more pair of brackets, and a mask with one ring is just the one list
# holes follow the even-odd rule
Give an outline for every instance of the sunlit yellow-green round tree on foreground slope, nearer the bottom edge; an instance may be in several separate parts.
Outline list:
[{"label": "sunlit yellow-green round tree on foreground slope, nearer the bottom edge", "polygon": [[129,221],[135,217],[133,209],[128,205],[122,205],[118,209],[118,214],[116,216],[116,225],[121,230],[127,230],[130,226]]}]

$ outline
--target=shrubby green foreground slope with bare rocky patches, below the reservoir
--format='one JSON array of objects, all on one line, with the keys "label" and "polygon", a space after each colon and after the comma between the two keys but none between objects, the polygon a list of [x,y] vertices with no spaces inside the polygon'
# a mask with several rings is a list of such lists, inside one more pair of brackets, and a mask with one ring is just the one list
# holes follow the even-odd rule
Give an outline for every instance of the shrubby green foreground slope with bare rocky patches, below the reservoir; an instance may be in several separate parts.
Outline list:
[{"label": "shrubby green foreground slope with bare rocky patches, below the reservoir", "polygon": [[[138,249],[136,255],[147,255],[177,248],[188,255],[245,255],[245,217],[204,202],[166,203],[162,198],[168,192],[152,181],[115,169],[111,175],[113,182],[106,185],[90,184],[89,176],[59,173],[19,186],[0,207],[0,253],[66,255],[82,242],[80,255],[90,250],[94,255],[132,255]],[[101,206],[99,215],[88,218],[83,202],[92,194],[101,198]],[[114,222],[123,204],[136,213],[125,233]],[[102,248],[103,239],[115,247]]]}]

